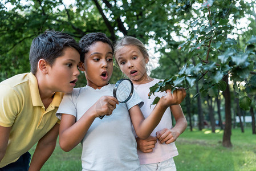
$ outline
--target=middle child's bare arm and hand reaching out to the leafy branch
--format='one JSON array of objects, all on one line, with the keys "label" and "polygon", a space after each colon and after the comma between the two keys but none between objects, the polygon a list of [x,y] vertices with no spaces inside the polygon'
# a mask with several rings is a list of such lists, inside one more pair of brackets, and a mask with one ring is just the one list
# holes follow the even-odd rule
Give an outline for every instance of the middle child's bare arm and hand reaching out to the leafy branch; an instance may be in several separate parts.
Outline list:
[{"label": "middle child's bare arm and hand reaching out to the leafy branch", "polygon": [[153,129],[156,128],[157,124],[159,124],[165,110],[170,105],[180,104],[185,96],[186,92],[183,88],[176,89],[173,93],[170,92],[170,89],[166,90],[166,95],[161,97],[159,103],[157,103],[156,107],[151,112],[151,115],[146,119],[144,119],[138,105],[129,109],[132,124],[137,136],[141,139],[146,139]]}]

